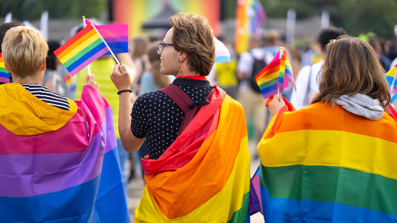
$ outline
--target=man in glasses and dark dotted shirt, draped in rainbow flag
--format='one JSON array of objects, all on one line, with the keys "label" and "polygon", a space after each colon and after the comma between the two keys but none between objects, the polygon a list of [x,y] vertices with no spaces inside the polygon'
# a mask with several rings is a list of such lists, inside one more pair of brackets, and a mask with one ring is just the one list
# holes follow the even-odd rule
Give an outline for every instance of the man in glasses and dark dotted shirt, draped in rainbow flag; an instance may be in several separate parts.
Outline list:
[{"label": "man in glasses and dark dotted shirt, draped in rainbow flag", "polygon": [[120,93],[124,148],[134,152],[145,139],[148,145],[134,222],[245,222],[250,176],[243,109],[206,80],[215,62],[207,18],[177,13],[169,20],[173,27],[158,54],[160,72],[177,77],[172,85],[140,95],[131,108],[125,66],[116,65],[110,76]]}]

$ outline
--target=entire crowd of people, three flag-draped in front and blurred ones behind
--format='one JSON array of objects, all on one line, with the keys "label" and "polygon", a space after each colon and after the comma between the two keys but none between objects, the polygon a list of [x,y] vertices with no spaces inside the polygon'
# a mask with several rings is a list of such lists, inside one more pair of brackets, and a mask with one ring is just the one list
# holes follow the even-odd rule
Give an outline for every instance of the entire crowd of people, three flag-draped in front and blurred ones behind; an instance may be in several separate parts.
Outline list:
[{"label": "entire crowd of people, three flag-draped in front and blurred ones behind", "polygon": [[[169,21],[164,37],[133,36],[120,64],[103,55],[74,77],[53,52],[60,41],[0,26],[11,82],[0,85],[0,220],[128,222],[139,183],[135,222],[245,222],[259,158],[266,222],[397,220],[397,113],[384,78],[397,44],[327,27],[296,48],[269,30],[241,54],[218,37],[231,62],[214,64],[205,17]],[[281,46],[296,86],[267,107],[253,77]]]}]

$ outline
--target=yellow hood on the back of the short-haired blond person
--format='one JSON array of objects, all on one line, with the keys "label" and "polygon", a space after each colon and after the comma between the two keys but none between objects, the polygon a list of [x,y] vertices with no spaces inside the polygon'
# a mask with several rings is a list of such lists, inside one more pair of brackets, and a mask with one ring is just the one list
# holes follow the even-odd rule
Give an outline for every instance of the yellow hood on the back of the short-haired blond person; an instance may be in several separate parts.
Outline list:
[{"label": "yellow hood on the back of the short-haired blond person", "polygon": [[68,98],[70,110],[38,99],[19,83],[0,86],[0,124],[16,135],[37,135],[58,130],[76,113],[76,103]]}]

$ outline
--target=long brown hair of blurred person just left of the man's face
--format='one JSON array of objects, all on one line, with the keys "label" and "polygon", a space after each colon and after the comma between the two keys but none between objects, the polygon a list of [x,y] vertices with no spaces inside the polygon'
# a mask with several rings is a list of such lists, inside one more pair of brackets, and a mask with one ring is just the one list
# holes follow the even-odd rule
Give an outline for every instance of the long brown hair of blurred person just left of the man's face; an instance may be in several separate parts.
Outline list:
[{"label": "long brown hair of blurred person just left of the man's face", "polygon": [[171,82],[167,75],[164,75],[160,72],[160,56],[157,53],[158,50],[158,42],[152,42],[146,48],[146,54],[148,55],[149,62],[152,65],[152,75],[154,83],[160,87],[165,88]]}]

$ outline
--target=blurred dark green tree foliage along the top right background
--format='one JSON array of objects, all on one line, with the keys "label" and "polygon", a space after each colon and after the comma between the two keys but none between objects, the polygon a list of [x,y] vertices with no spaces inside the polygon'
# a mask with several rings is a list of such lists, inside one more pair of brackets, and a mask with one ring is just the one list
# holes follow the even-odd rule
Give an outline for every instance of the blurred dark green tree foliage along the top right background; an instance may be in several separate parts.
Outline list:
[{"label": "blurred dark green tree foliage along the top right background", "polygon": [[[234,18],[237,0],[223,1],[226,18]],[[287,17],[289,9],[296,11],[297,19],[330,13],[330,22],[343,27],[350,35],[374,32],[392,37],[397,24],[396,0],[260,0],[268,18]]]}]

